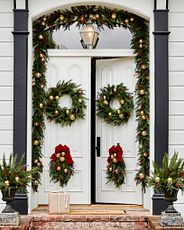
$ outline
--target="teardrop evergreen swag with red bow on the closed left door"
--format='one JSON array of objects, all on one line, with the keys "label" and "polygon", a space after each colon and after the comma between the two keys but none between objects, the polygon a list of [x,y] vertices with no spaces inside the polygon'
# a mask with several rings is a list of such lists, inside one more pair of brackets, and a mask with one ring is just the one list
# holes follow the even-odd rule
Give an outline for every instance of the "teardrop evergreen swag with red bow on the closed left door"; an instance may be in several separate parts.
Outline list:
[{"label": "teardrop evergreen swag with red bow on the closed left door", "polygon": [[50,159],[51,181],[64,187],[74,174],[74,161],[70,155],[69,147],[59,144],[55,147],[55,153],[51,155]]}]

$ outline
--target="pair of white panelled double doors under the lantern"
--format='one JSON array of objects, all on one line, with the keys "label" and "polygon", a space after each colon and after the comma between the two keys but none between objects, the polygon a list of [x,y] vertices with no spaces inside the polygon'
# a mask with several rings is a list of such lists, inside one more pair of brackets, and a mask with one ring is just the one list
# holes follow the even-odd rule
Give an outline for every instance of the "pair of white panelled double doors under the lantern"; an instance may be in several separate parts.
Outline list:
[{"label": "pair of white panelled double doors under the lantern", "polygon": [[[58,51],[61,52],[61,51]],[[133,115],[128,124],[114,127],[103,123],[96,118],[96,124],[91,117],[91,57],[67,57],[57,52],[51,53],[47,70],[47,87],[55,87],[59,80],[69,81],[80,85],[85,90],[87,109],[85,118],[75,121],[71,126],[60,126],[53,121],[45,119],[46,130],[43,146],[42,162],[44,170],[42,173],[42,185],[38,193],[38,203],[48,204],[48,194],[53,191],[67,191],[70,193],[71,203],[90,204],[92,193],[95,193],[96,202],[102,203],[126,203],[142,204],[141,189],[136,187],[134,176],[136,173],[137,146],[136,146],[136,120]],[[130,90],[134,91],[134,58],[117,58],[96,61],[96,91],[107,84],[119,84],[123,82]],[[65,96],[60,100],[60,106],[71,106],[71,99]],[[115,105],[116,106],[116,105]],[[96,125],[96,137],[101,139],[101,153],[97,157],[92,152],[91,129]],[[95,137],[95,139],[96,139]],[[113,184],[106,184],[106,166],[108,149],[116,143],[120,143],[124,151],[126,162],[126,181],[120,188],[116,189]],[[63,189],[57,184],[50,182],[49,161],[55,146],[66,144],[75,162],[75,174],[71,177],[68,185]],[[96,162],[91,164],[91,157],[96,155]],[[94,166],[93,166],[94,164]],[[96,164],[96,166],[95,166]],[[96,168],[95,180],[96,191],[91,185],[91,167]],[[93,196],[94,197],[94,196]]]}]

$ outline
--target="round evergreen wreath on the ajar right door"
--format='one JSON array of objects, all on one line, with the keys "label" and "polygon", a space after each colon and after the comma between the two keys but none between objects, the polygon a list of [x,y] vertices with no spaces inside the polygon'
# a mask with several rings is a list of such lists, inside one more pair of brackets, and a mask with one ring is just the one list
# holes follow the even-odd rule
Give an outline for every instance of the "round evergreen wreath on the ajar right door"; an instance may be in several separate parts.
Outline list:
[{"label": "round evergreen wreath on the ajar right door", "polygon": [[[128,93],[128,89],[123,83],[115,86],[108,85],[100,89],[97,96],[97,115],[106,123],[112,125],[122,125],[128,122],[134,108],[133,97]],[[119,100],[120,107],[113,109],[110,106],[111,101]]]}]

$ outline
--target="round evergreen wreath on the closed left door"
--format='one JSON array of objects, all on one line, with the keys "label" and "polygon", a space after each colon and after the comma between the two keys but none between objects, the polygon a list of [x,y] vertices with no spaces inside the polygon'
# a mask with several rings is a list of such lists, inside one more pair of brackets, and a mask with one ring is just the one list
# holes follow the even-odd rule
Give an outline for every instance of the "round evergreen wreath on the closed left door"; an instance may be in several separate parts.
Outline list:
[{"label": "round evergreen wreath on the closed left door", "polygon": [[[72,99],[71,108],[59,106],[59,99],[66,94],[70,95]],[[46,93],[46,100],[45,114],[50,121],[54,120],[56,124],[71,125],[77,119],[82,119],[85,116],[84,91],[71,80],[62,83],[59,81],[56,88],[50,88]]]}]

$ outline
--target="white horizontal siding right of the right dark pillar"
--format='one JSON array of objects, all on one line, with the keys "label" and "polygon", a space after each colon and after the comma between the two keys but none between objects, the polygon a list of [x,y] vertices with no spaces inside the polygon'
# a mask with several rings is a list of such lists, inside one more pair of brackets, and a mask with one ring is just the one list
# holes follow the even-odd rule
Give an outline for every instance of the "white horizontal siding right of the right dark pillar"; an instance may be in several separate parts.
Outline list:
[{"label": "white horizontal siding right of the right dark pillar", "polygon": [[[169,150],[184,158],[184,1],[169,1]],[[184,197],[175,205],[184,216]]]}]

